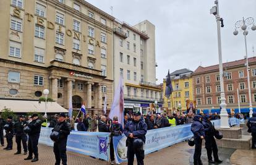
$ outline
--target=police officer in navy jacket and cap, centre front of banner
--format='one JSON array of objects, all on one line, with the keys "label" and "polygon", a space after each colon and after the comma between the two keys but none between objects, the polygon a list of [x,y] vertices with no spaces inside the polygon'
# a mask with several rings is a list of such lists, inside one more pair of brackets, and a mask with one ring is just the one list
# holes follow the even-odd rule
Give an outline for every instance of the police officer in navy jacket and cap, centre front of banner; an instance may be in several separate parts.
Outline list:
[{"label": "police officer in navy jacket and cap, centre front of banner", "polygon": [[[127,137],[126,146],[127,146],[127,159],[128,165],[134,164],[134,154],[137,158],[137,164],[144,164],[144,149],[143,145],[145,144],[147,133],[147,124],[143,121],[141,113],[134,112],[134,119],[127,122],[126,127],[124,127],[124,134]],[[141,147],[137,147],[137,142],[141,141]],[[135,143],[136,142],[136,143]]]}]

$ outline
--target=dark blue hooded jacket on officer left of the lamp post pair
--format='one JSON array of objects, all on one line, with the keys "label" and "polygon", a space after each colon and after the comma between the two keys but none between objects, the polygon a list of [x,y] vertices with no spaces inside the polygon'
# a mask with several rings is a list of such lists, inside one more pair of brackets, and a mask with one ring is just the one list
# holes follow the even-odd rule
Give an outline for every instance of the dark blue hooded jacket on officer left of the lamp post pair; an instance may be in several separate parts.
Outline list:
[{"label": "dark blue hooded jacket on officer left of the lamp post pair", "polygon": [[194,133],[194,138],[200,138],[200,136],[205,137],[205,130],[203,128],[202,121],[200,121],[200,118],[202,116],[195,115],[194,122],[191,125],[191,131]]}]

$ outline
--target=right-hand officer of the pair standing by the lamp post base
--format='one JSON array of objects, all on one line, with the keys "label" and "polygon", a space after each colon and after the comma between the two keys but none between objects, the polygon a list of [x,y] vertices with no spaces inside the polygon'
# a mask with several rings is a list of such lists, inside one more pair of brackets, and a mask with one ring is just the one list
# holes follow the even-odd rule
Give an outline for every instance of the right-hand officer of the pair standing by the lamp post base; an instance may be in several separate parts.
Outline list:
[{"label": "right-hand officer of the pair standing by the lamp post base", "polygon": [[[210,121],[210,115],[205,114],[203,117],[203,127],[205,129],[205,148],[207,150],[207,157],[209,163],[222,163],[218,156],[218,147],[215,141],[215,128]],[[213,158],[211,157],[211,153],[213,153]]]}]

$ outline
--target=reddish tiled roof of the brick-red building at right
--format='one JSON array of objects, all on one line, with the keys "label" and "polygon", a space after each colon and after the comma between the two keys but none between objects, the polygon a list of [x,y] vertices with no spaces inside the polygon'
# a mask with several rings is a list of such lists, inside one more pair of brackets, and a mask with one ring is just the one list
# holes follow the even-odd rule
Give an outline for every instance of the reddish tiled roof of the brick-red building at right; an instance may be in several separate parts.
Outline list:
[{"label": "reddish tiled roof of the brick-red building at right", "polygon": [[[245,62],[246,62],[245,59],[240,59],[240,60],[231,61],[231,62],[225,62],[225,63],[223,63],[223,68],[241,66],[241,65],[244,65]],[[256,62],[256,57],[248,58],[248,62],[249,63]],[[202,72],[209,72],[211,70],[218,70],[218,69],[219,69],[219,65],[208,66],[208,67],[198,66],[197,69],[195,69],[194,74],[199,74],[199,73],[202,73]]]}]

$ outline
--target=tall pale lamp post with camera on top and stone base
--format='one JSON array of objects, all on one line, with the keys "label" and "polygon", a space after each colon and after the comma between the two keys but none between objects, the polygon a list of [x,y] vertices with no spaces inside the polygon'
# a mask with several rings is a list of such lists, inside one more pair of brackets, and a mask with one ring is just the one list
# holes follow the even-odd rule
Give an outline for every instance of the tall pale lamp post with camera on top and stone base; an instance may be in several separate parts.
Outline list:
[{"label": "tall pale lamp post with camera on top and stone base", "polygon": [[[220,127],[223,129],[228,129],[228,112],[226,111],[226,98],[224,93],[224,82],[223,82],[223,64],[222,64],[222,53],[221,53],[221,31],[220,26],[224,27],[223,19],[220,17],[219,11],[219,3],[218,0],[215,1],[215,6],[211,7],[210,14],[215,15],[216,22],[217,22],[217,33],[218,33],[218,54],[219,54],[219,70],[220,70],[220,86],[221,86],[221,125]],[[220,25],[221,24],[221,25]]]}]

